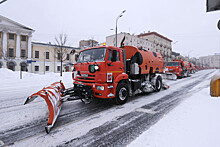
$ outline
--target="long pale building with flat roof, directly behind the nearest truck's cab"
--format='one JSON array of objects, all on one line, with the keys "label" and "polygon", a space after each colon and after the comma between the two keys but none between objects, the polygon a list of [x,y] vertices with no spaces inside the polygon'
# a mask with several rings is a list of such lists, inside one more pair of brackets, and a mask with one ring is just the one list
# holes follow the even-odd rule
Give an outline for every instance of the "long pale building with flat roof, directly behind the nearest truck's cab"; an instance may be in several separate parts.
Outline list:
[{"label": "long pale building with flat roof, directly behind the nearest truck's cab", "polygon": [[[117,46],[121,46],[121,42],[123,38],[125,37],[124,40],[124,45],[130,45],[130,46],[135,46],[135,47],[142,47],[145,50],[153,50],[153,43],[148,41],[147,39],[140,38],[136,35],[131,35],[130,33],[120,33],[117,34]],[[106,37],[106,45],[107,46],[116,46],[116,41],[115,41],[115,35],[107,36]]]}]

